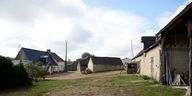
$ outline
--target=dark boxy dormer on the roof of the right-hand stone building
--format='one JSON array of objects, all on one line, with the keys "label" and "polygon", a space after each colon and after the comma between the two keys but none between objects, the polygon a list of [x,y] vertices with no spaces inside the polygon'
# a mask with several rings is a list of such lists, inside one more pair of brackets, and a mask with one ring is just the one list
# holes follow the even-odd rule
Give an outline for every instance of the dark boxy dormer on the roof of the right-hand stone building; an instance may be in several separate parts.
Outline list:
[{"label": "dark boxy dormer on the roof of the right-hand stone building", "polygon": [[156,42],[155,36],[142,36],[141,42],[144,44],[144,50]]}]

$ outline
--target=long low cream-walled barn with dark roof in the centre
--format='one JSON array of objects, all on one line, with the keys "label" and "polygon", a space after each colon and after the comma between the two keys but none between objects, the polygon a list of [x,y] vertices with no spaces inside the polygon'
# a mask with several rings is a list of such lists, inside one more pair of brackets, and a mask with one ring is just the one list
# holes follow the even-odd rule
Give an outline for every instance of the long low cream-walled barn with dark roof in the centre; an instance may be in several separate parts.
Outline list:
[{"label": "long low cream-walled barn with dark roof in the centre", "polygon": [[123,63],[116,57],[91,57],[88,62],[88,68],[92,72],[111,71],[123,69]]}]

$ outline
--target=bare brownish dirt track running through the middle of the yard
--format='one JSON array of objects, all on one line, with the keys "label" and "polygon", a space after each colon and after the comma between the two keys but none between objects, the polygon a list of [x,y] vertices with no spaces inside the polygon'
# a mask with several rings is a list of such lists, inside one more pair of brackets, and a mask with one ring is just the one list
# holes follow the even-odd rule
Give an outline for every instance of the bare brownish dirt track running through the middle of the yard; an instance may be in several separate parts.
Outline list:
[{"label": "bare brownish dirt track running through the middle of the yard", "polygon": [[127,89],[112,87],[108,81],[112,80],[115,76],[120,75],[120,71],[96,73],[89,75],[82,75],[77,72],[53,77],[50,79],[76,79],[84,78],[76,81],[75,84],[55,89],[45,96],[127,96]]}]

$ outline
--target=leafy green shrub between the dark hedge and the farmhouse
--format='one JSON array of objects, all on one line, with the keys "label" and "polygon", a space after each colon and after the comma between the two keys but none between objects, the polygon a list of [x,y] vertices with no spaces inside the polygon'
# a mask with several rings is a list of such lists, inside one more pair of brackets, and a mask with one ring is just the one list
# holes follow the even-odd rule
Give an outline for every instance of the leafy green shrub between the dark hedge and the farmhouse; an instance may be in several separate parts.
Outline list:
[{"label": "leafy green shrub between the dark hedge and the farmhouse", "polygon": [[45,79],[47,71],[41,63],[27,64],[25,69],[32,80],[38,81],[39,78]]}]

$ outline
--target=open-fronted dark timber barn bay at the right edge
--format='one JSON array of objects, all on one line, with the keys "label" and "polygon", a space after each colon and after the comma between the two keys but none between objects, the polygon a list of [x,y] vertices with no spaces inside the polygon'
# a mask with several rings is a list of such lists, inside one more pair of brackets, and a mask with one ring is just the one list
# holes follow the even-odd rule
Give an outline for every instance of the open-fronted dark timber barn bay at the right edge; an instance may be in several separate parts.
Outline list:
[{"label": "open-fronted dark timber barn bay at the right edge", "polygon": [[181,85],[190,84],[191,31],[192,3],[156,34],[161,42],[162,80],[166,84],[174,84],[178,76],[183,81]]}]

